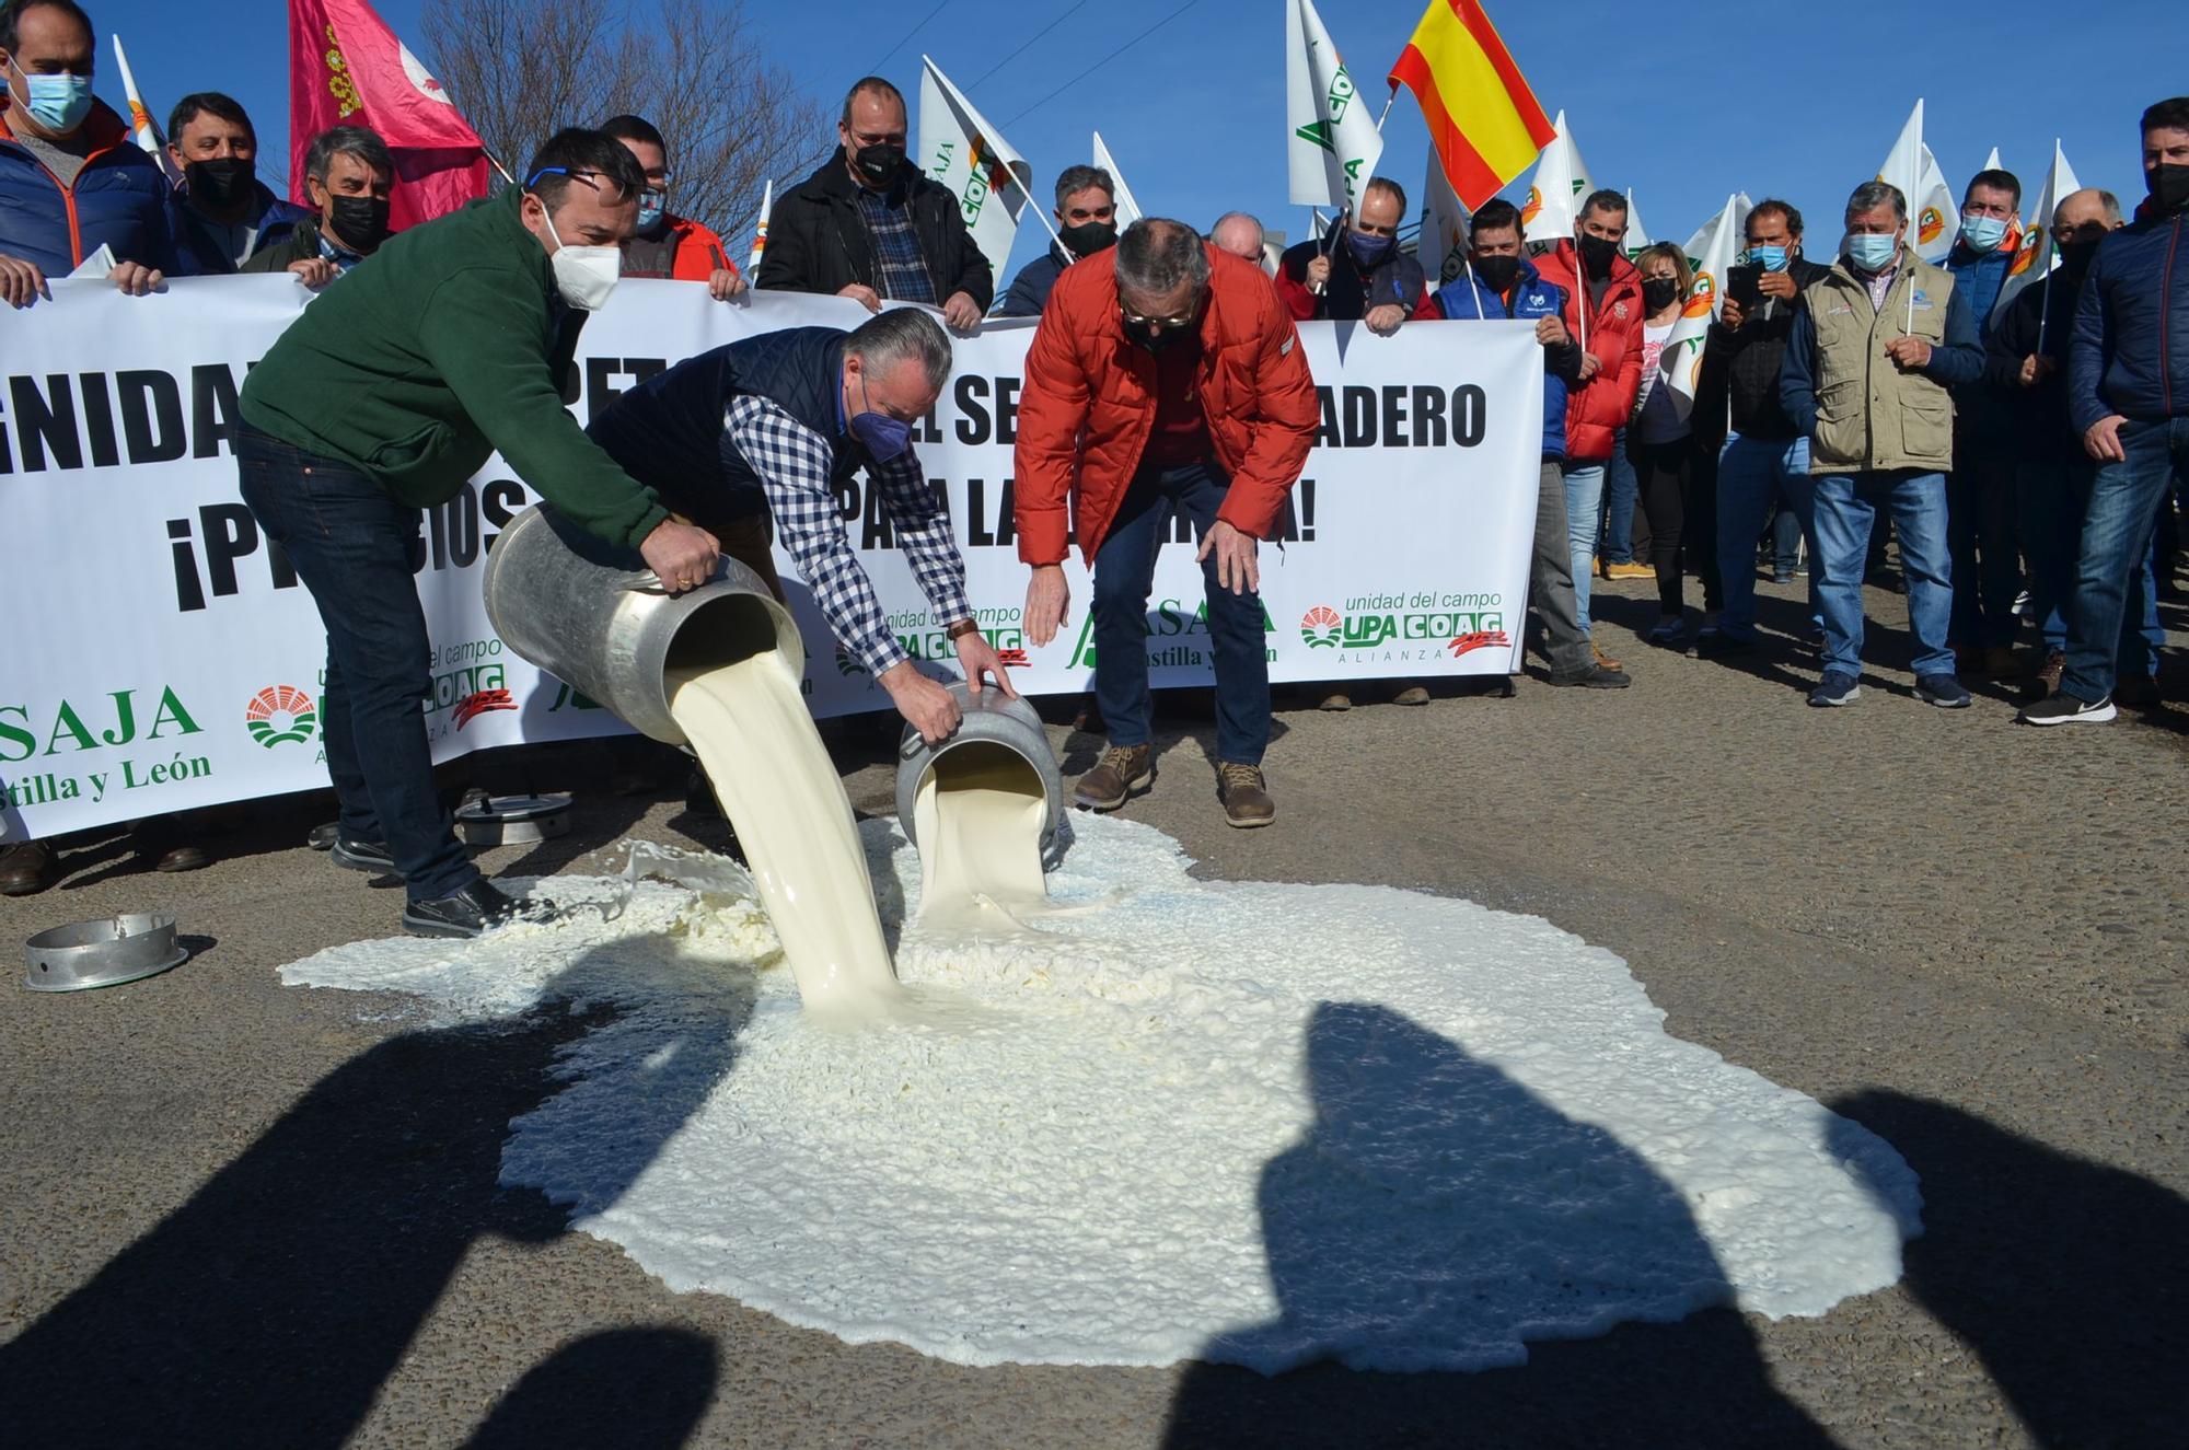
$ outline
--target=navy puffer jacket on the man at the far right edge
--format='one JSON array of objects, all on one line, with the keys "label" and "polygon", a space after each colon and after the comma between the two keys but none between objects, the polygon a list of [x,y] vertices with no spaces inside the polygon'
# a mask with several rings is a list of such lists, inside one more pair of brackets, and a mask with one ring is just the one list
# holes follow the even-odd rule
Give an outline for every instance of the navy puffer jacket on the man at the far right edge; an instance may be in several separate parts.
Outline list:
[{"label": "navy puffer jacket on the man at the far right edge", "polygon": [[2077,431],[2112,414],[2189,414],[2189,210],[2132,221],[2099,243],[2066,372]]}]

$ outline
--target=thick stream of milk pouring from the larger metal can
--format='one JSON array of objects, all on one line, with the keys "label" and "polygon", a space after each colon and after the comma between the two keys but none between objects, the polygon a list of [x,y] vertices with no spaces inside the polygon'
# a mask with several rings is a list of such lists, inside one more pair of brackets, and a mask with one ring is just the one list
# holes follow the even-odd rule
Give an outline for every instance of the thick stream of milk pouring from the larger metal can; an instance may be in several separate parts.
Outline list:
[{"label": "thick stream of milk pouring from the larger metal can", "polygon": [[862,1016],[900,997],[873,913],[858,821],[775,651],[670,670],[670,716],[692,740],[753,867],[799,997]]}]

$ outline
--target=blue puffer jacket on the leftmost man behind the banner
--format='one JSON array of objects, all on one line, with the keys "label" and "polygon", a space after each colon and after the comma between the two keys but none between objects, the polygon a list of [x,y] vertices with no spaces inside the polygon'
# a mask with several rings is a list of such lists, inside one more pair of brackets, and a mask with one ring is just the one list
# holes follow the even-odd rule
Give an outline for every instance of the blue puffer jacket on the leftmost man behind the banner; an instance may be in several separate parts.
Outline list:
[{"label": "blue puffer jacket on the leftmost man behind the banner", "polygon": [[166,175],[129,140],[129,127],[103,101],[83,123],[92,153],[72,186],[61,186],[0,118],[0,252],[68,276],[101,243],[114,261],[169,272],[175,243],[166,230]]}]

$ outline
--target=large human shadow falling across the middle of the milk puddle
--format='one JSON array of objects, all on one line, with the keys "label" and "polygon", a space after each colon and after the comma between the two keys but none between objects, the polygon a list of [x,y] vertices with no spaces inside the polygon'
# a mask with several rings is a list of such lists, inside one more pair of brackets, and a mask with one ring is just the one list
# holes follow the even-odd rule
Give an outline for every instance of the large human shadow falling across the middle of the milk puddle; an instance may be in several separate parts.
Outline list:
[{"label": "large human shadow falling across the middle of the milk puddle", "polygon": [[[1381,1005],[1318,1005],[1307,1067],[1316,1124],[1261,1181],[1278,1316],[1206,1354],[1513,1367],[1197,1362],[1167,1446],[1832,1443],[1771,1386],[1738,1312],[1613,1327],[1618,1301],[1692,1288],[1729,1303],[1731,1288],[1679,1194],[1609,1132]],[[1602,1281],[1602,1235],[1633,1253],[1611,1270],[1626,1284],[1596,1297],[1576,1279]]]}]

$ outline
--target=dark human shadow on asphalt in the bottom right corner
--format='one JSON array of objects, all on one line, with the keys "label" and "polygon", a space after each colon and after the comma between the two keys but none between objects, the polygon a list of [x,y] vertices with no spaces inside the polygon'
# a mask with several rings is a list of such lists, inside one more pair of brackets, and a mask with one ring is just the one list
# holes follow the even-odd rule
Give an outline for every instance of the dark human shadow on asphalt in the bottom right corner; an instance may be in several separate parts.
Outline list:
[{"label": "dark human shadow on asphalt in the bottom right corner", "polygon": [[2040,1446],[2178,1446],[2189,1200],[1904,1093],[1832,1104],[1922,1176],[1907,1290],[1983,1360]]}]

